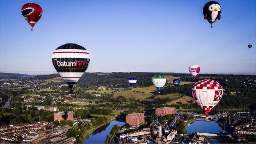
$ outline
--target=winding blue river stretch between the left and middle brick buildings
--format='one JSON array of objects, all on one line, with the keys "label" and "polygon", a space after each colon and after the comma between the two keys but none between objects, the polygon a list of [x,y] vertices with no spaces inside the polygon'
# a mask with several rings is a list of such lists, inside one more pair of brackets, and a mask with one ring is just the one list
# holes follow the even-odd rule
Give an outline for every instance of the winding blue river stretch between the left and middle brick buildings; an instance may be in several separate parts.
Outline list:
[{"label": "winding blue river stretch between the left and middle brick buildings", "polygon": [[110,134],[113,126],[117,124],[118,126],[123,126],[125,123],[120,121],[111,121],[106,125],[96,129],[91,135],[89,135],[85,140],[84,144],[104,144],[107,135]]}]

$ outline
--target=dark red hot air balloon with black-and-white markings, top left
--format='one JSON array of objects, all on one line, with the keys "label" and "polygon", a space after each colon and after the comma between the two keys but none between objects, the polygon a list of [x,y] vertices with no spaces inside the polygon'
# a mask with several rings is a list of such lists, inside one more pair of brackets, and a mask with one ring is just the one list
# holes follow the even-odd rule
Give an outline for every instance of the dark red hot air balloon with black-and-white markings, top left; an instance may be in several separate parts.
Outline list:
[{"label": "dark red hot air balloon with black-and-white markings, top left", "polygon": [[27,3],[21,7],[21,14],[28,24],[31,25],[31,30],[33,30],[34,25],[39,21],[43,14],[43,9],[40,5],[35,3]]}]

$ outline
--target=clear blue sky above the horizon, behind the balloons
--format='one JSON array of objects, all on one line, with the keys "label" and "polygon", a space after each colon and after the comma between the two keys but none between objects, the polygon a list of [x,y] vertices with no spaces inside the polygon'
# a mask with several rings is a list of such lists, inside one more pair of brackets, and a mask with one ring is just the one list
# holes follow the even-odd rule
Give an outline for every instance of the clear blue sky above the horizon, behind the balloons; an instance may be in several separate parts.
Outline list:
[{"label": "clear blue sky above the horizon, behind the balloons", "polygon": [[[221,20],[210,24],[209,0],[1,0],[0,71],[57,73],[53,51],[65,43],[87,48],[87,72],[256,73],[256,1],[217,0]],[[43,15],[30,31],[21,7]],[[252,49],[247,45],[251,43]]]}]

